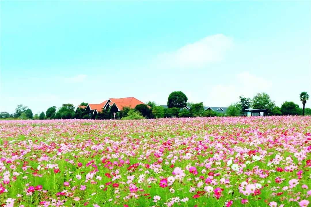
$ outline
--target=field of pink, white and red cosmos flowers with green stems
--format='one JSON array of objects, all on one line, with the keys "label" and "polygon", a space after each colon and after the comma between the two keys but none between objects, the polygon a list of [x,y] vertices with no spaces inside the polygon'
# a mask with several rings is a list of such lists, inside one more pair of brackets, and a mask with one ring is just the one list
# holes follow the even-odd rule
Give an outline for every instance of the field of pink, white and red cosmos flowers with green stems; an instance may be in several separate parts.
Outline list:
[{"label": "field of pink, white and red cosmos flowers with green stems", "polygon": [[1,206],[311,206],[310,117],[0,123]]}]

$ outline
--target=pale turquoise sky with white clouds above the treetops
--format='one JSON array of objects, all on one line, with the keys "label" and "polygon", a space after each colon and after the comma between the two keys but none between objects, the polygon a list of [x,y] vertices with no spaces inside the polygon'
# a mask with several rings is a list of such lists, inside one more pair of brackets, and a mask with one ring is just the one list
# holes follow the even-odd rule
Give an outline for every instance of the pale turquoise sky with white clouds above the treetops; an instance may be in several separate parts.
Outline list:
[{"label": "pale turquoise sky with white clouds above the treetops", "polygon": [[[311,95],[311,2],[1,1],[0,111]],[[306,107],[311,108],[311,100]]]}]

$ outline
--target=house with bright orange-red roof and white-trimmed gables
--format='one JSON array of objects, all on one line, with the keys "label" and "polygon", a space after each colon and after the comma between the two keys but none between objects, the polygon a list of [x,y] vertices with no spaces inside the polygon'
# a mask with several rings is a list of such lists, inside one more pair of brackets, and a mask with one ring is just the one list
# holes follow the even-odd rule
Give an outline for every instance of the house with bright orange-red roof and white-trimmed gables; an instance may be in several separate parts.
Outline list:
[{"label": "house with bright orange-red roof and white-trimmed gables", "polygon": [[[109,98],[100,104],[88,104],[87,106],[78,106],[77,110],[86,109],[86,111],[90,111],[90,116],[92,114],[97,114],[102,112],[103,109],[109,110],[110,108],[115,112],[122,111],[123,107],[130,107],[131,109],[135,108],[138,104],[145,104],[142,101],[139,101],[134,97],[126,97],[126,98]],[[148,106],[149,107],[149,106]],[[76,110],[76,112],[77,112]]]}]

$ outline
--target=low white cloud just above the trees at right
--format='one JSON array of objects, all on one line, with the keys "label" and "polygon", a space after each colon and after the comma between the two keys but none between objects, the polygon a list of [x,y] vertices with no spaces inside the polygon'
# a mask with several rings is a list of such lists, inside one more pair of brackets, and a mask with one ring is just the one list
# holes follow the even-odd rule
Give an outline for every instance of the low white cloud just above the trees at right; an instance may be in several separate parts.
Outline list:
[{"label": "low white cloud just above the trees at right", "polygon": [[204,100],[209,106],[229,106],[231,103],[239,101],[239,96],[253,98],[256,93],[267,92],[272,83],[259,76],[243,72],[237,74],[233,81],[228,84],[217,84],[207,88],[209,100]]}]

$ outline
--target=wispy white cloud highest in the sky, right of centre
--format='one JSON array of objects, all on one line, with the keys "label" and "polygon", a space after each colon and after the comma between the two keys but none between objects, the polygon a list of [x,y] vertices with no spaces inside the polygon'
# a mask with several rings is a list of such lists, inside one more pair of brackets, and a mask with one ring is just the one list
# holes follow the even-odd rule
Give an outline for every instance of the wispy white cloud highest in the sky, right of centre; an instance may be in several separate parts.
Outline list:
[{"label": "wispy white cloud highest in the sky, right of centre", "polygon": [[211,62],[221,61],[232,45],[231,38],[216,34],[188,43],[176,51],[160,54],[156,61],[162,68],[202,68]]}]

